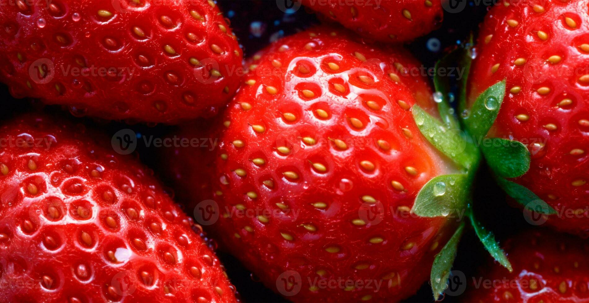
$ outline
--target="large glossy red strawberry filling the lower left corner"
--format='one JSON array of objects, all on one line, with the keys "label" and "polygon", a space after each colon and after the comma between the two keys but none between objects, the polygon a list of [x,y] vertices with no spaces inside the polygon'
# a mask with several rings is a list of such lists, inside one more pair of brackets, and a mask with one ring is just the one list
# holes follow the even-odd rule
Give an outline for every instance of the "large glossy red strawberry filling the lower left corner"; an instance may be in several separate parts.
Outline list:
[{"label": "large glossy red strawberry filling the lower left corner", "polygon": [[45,116],[3,123],[0,301],[236,301],[200,226],[101,139]]}]

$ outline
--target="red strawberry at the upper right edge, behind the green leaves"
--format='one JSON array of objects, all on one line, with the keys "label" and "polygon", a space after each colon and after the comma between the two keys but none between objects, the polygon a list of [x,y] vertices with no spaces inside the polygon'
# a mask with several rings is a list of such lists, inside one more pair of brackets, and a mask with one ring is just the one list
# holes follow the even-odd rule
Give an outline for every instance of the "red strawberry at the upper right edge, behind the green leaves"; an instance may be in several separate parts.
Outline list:
[{"label": "red strawberry at the upper right edge, behind the green leaves", "polygon": [[[469,75],[470,105],[507,79],[488,137],[518,140],[530,170],[511,179],[565,216],[558,230],[589,232],[589,1],[534,1],[492,8],[481,27]],[[585,50],[587,51],[585,51]],[[571,215],[572,214],[572,215]]]}]

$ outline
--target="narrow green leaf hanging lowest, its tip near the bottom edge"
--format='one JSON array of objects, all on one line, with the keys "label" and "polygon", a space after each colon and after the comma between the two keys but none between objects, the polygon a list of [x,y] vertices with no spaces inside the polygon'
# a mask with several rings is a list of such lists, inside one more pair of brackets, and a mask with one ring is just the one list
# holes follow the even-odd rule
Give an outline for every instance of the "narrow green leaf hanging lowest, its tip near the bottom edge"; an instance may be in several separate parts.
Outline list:
[{"label": "narrow green leaf hanging lowest, its tip near the bottom edge", "polygon": [[462,221],[454,232],[454,235],[444,245],[444,248],[436,254],[434,259],[429,281],[432,284],[432,291],[434,291],[434,299],[436,301],[438,301],[439,297],[444,294],[444,291],[448,287],[448,277],[452,264],[454,264],[454,259],[456,258],[456,250],[458,250],[458,242],[464,232],[464,225],[465,222]]}]

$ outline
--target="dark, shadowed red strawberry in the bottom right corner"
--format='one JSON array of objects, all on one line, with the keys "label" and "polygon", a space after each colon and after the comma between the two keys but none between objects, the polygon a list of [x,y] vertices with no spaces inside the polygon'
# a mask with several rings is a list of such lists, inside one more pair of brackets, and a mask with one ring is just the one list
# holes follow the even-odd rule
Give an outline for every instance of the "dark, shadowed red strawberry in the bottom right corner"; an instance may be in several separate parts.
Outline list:
[{"label": "dark, shadowed red strawberry in the bottom right corner", "polygon": [[513,272],[488,264],[469,281],[464,302],[589,302],[589,243],[550,230],[505,242]]}]

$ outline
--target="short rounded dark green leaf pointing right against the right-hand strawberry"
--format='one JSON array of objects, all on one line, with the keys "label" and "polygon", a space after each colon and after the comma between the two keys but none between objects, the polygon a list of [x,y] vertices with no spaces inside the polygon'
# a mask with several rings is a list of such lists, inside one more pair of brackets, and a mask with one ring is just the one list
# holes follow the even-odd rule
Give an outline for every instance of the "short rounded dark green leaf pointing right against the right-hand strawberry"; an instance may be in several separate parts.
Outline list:
[{"label": "short rounded dark green leaf pointing right against the right-hand strawberry", "polygon": [[502,138],[485,139],[481,150],[491,169],[501,177],[519,177],[530,169],[530,151],[521,142]]}]

